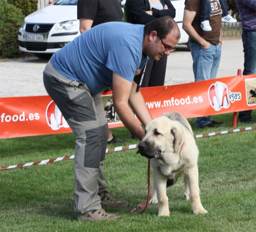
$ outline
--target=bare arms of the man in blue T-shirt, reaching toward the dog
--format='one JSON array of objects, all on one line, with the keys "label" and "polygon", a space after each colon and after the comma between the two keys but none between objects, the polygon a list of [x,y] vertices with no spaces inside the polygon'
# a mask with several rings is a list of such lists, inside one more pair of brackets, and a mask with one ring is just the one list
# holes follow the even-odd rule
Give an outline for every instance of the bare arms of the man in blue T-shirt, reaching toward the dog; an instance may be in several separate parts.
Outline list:
[{"label": "bare arms of the man in blue T-shirt, reaching toward the dog", "polygon": [[[135,83],[135,82],[134,82]],[[134,113],[137,113],[140,115],[137,115],[143,125],[146,125],[148,122],[152,120],[150,113],[148,112],[148,109],[145,105],[143,96],[141,94],[138,94],[136,99],[137,107],[134,109],[134,113],[128,106],[128,100],[130,101],[130,94],[131,90],[136,91],[136,84],[134,87],[134,84],[131,83],[128,80],[125,80],[121,76],[117,75],[116,73],[113,73],[113,105],[114,109],[116,110],[116,113],[118,114],[119,118],[121,119],[122,123],[125,125],[126,128],[128,128],[131,133],[133,133],[138,139],[142,139],[144,136],[144,130],[137,121],[137,119],[134,116]],[[130,102],[131,106],[134,107],[134,98]],[[143,111],[145,111],[145,116],[141,115],[143,114]]]}]

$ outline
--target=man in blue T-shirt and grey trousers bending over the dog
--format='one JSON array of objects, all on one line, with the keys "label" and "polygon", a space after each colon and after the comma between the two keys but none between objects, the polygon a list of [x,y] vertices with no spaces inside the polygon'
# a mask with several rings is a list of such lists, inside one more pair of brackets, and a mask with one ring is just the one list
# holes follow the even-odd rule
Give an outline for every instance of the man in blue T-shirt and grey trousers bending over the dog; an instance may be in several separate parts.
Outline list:
[{"label": "man in blue T-shirt and grey trousers bending over the dog", "polygon": [[[137,91],[137,75],[148,57],[158,61],[170,55],[179,38],[178,26],[171,17],[161,17],[145,26],[103,23],[75,38],[48,62],[44,86],[76,136],[74,191],[78,220],[120,218],[102,209],[107,199],[99,196],[106,190],[103,167],[108,141],[100,93],[113,86],[116,113],[126,128],[142,139],[144,129],[134,113],[144,126],[152,117]],[[127,202],[113,203],[112,207],[119,204],[126,206]]]}]

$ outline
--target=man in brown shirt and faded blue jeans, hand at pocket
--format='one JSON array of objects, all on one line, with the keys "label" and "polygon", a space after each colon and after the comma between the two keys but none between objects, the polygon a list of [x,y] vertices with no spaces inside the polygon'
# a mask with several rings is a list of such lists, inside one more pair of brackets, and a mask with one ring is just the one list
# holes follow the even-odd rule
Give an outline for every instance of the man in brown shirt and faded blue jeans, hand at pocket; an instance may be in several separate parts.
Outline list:
[{"label": "man in brown shirt and faded blue jeans, hand at pocket", "polygon": [[[201,28],[200,0],[185,1],[183,29],[190,37],[190,50],[193,58],[195,81],[216,78],[221,59],[221,16],[222,10],[218,0],[211,0],[211,16],[209,18],[212,31],[205,32]],[[223,122],[215,122],[212,116],[198,117],[197,128],[215,127]]]}]

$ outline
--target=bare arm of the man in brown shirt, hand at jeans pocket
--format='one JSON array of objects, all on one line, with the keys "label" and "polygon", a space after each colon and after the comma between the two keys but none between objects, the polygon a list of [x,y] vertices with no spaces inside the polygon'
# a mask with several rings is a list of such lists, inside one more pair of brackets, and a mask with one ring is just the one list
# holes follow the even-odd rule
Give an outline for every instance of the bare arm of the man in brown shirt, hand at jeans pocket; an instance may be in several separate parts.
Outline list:
[{"label": "bare arm of the man in brown shirt, hand at jeans pocket", "polygon": [[196,12],[194,11],[184,10],[182,28],[193,40],[195,40],[198,44],[201,45],[201,48],[209,48],[211,46],[210,43],[207,42],[200,35],[198,35],[196,30],[192,26],[195,14]]}]

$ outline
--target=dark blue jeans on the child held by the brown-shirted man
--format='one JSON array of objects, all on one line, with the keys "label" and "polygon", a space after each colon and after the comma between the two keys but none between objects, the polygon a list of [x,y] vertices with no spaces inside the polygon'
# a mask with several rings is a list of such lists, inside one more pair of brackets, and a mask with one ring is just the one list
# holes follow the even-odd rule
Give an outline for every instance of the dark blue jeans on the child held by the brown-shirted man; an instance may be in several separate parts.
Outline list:
[{"label": "dark blue jeans on the child held by the brown-shirted man", "polygon": [[[220,0],[221,3],[221,9],[222,9],[222,17],[225,17],[228,15],[227,12],[227,2],[226,0]],[[201,7],[201,22],[205,20],[209,20],[209,17],[212,12],[211,8],[211,0],[201,0],[200,1],[200,7]]]}]

